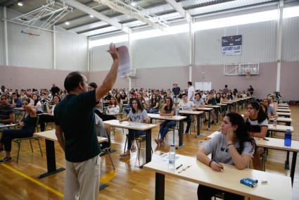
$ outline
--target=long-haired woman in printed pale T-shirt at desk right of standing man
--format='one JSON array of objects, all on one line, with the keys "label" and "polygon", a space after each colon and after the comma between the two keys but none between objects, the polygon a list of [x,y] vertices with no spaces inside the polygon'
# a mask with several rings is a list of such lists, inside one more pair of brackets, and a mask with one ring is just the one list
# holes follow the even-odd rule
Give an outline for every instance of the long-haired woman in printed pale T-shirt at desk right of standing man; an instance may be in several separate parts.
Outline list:
[{"label": "long-haired woman in printed pale T-shirt at desk right of standing man", "polygon": [[[146,113],[146,110],[142,106],[139,99],[132,99],[132,110],[129,111],[129,115],[127,118],[120,119],[120,123],[125,120],[131,120],[135,123],[150,123],[150,118],[148,118],[148,113]],[[134,140],[135,137],[138,135],[146,135],[145,131],[141,130],[131,130],[129,129],[129,137],[127,139],[127,151],[125,154],[120,154],[121,159],[129,158],[130,157],[130,151],[134,152],[136,151],[136,146],[134,146]]]}]

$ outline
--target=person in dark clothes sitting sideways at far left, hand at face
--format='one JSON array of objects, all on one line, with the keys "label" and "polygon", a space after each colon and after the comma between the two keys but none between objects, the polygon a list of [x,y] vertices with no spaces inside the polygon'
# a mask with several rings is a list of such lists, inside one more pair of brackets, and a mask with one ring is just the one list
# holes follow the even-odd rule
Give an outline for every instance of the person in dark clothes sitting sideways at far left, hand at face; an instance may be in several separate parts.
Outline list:
[{"label": "person in dark clothes sitting sideways at far left, hand at face", "polygon": [[6,151],[6,157],[0,160],[0,163],[11,161],[11,140],[15,138],[32,137],[37,123],[37,111],[30,105],[30,99],[23,101],[25,113],[19,120],[21,129],[7,129],[2,133],[0,140],[0,149],[3,147]]}]

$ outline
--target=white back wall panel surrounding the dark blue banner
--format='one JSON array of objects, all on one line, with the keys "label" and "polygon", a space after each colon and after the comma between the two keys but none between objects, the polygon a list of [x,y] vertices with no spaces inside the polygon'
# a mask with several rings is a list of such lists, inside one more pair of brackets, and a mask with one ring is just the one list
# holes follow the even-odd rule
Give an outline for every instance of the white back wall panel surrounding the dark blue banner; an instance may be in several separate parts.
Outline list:
[{"label": "white back wall panel surrounding the dark blue banner", "polygon": [[[242,55],[222,56],[223,36],[242,35]],[[276,61],[276,21],[196,32],[196,65]]]}]

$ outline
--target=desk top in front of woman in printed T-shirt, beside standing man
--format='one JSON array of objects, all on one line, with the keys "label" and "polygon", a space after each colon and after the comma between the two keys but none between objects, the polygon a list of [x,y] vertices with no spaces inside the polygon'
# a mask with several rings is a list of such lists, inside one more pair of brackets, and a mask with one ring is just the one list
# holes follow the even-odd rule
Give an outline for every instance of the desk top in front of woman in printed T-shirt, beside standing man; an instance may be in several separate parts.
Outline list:
[{"label": "desk top in front of woman in printed T-shirt, beside standing man", "polygon": [[108,124],[113,127],[123,127],[132,130],[149,130],[158,125],[146,124],[146,123],[133,123],[130,121],[123,121],[120,123],[120,120],[107,120],[103,121],[104,124]]}]

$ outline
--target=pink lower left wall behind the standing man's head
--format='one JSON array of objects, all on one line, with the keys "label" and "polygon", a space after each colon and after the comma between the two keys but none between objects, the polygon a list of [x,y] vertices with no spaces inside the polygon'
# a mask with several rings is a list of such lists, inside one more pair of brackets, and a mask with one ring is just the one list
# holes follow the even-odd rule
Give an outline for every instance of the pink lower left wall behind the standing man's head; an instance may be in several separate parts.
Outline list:
[{"label": "pink lower left wall behind the standing man's head", "polygon": [[[51,89],[56,83],[64,89],[63,82],[69,70],[47,70],[39,68],[19,68],[0,65],[0,85],[11,89]],[[88,73],[84,72],[84,75]]]}]

